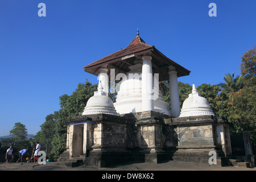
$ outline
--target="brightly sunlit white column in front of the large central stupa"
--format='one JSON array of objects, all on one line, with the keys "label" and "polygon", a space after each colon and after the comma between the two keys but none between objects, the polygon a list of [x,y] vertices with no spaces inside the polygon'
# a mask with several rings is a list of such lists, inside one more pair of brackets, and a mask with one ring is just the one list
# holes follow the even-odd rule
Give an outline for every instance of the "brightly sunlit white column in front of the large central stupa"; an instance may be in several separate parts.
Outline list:
[{"label": "brightly sunlit white column in front of the large central stupa", "polygon": [[154,110],[151,56],[142,57],[142,111]]}]

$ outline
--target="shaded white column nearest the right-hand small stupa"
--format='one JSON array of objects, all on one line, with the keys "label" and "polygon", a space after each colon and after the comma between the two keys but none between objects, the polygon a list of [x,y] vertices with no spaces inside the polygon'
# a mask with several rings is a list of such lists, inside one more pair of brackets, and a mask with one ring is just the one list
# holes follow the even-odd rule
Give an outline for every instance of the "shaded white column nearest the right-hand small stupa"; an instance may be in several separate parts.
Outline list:
[{"label": "shaded white column nearest the right-hand small stupa", "polygon": [[179,117],[180,115],[180,98],[179,87],[177,84],[177,71],[175,67],[169,67],[170,76],[170,102],[171,102],[171,115],[173,117]]}]

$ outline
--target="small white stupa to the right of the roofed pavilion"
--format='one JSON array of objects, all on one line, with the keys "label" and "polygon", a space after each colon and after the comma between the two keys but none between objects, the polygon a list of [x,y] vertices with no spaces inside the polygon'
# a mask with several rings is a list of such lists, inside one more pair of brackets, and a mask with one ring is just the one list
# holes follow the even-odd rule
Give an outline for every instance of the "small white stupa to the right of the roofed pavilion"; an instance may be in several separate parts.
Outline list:
[{"label": "small white stupa to the right of the roofed pavilion", "polygon": [[206,98],[197,93],[196,86],[193,84],[192,93],[183,102],[179,117],[189,117],[196,115],[214,115],[212,108]]}]

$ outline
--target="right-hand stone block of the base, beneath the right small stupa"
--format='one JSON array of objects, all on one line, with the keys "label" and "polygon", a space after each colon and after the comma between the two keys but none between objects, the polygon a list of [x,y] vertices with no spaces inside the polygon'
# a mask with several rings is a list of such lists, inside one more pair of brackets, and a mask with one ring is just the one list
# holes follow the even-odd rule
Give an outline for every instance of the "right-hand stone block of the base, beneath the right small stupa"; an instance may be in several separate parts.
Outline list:
[{"label": "right-hand stone block of the base, beneath the right small stupa", "polygon": [[217,164],[224,166],[230,154],[228,124],[213,115],[166,119],[175,127],[177,151],[174,160],[209,163],[210,152],[216,153]]}]

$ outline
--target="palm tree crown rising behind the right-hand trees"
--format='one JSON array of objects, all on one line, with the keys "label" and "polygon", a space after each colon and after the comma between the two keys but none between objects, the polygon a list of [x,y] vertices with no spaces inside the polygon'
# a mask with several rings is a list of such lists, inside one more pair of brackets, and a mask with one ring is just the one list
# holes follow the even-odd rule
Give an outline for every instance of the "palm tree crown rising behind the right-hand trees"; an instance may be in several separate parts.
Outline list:
[{"label": "palm tree crown rising behind the right-hand trees", "polygon": [[[235,72],[234,72],[235,73]],[[243,76],[237,76],[234,78],[233,75],[230,75],[230,73],[226,74],[224,77],[225,83],[220,83],[218,86],[222,89],[222,91],[230,93],[230,92],[237,92],[243,87]]]}]

